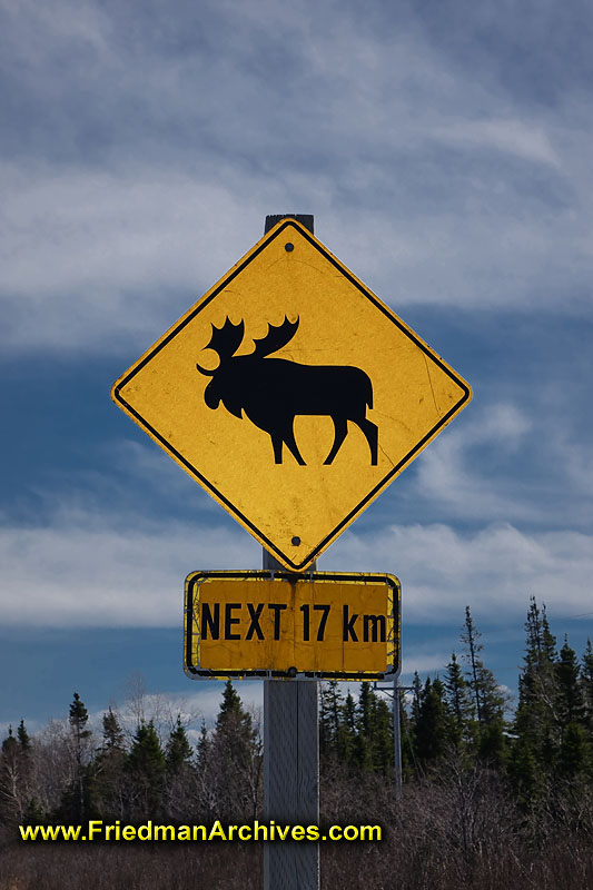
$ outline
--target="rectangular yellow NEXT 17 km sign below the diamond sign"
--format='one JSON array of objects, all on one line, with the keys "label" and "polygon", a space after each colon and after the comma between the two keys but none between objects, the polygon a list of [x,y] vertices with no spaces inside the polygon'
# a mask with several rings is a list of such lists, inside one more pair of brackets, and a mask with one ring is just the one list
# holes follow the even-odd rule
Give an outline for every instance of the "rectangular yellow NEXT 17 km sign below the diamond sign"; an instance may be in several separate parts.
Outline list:
[{"label": "rectangular yellow NEXT 17 km sign below the diamond sign", "polygon": [[186,580],[190,678],[377,680],[399,665],[394,575],[194,572]]}]

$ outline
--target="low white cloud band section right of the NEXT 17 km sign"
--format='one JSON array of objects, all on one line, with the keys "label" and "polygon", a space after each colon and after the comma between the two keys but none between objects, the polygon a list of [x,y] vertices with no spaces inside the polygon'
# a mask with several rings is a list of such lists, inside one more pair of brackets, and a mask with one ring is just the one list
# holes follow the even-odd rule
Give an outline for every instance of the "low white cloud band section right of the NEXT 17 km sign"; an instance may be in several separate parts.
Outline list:
[{"label": "low white cloud band section right of the NEXT 17 km sign", "polygon": [[524,616],[530,596],[560,615],[591,609],[591,535],[527,533],[510,523],[472,532],[444,524],[349,532],[323,558],[324,570],[393,572],[402,582],[406,622],[459,622],[470,605],[478,623]]}]

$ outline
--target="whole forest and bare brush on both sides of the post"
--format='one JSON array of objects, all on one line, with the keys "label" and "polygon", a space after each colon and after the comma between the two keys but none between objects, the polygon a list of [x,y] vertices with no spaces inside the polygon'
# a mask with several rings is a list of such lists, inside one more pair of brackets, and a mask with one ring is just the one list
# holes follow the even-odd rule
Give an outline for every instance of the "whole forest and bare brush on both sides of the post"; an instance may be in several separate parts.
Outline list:
[{"label": "whole forest and bare brush on both sides of the post", "polygon": [[[322,824],[379,823],[380,842],[322,844],[322,887],[593,887],[593,647],[559,645],[532,599],[516,702],[486,666],[470,609],[459,651],[399,692],[403,790],[394,781],[392,701],[360,683],[322,685]],[[239,689],[240,689],[240,684]],[[231,682],[211,726],[170,704],[109,708],[91,729],[73,693],[68,716],[0,753],[0,890],[263,887],[261,844],[23,843],[20,824],[211,824],[263,819],[257,714]]]}]

